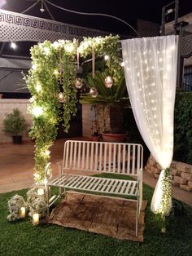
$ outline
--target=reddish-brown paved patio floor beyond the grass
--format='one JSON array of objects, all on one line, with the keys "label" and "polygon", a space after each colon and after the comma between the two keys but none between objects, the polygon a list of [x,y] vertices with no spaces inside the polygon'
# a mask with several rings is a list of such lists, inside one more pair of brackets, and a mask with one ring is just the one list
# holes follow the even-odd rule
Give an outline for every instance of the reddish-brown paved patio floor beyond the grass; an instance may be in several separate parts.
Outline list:
[{"label": "reddish-brown paved patio floor beyond the grass", "polygon": [[[53,176],[58,174],[57,162],[63,157],[64,139],[58,139],[50,148]],[[11,192],[33,186],[33,151],[34,143],[0,144],[0,193]],[[143,182],[155,188],[156,179],[146,171],[143,172]],[[181,188],[172,187],[173,197],[192,206],[192,193]]]}]

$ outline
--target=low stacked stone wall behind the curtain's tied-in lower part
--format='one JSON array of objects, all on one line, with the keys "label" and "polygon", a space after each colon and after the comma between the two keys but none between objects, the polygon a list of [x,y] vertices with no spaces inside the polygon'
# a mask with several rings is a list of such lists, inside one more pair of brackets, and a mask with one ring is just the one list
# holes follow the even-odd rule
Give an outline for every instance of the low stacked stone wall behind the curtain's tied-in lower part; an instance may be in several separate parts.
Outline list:
[{"label": "low stacked stone wall behind the curtain's tied-in lower part", "polygon": [[[146,163],[145,170],[158,179],[161,167],[155,161],[154,157],[150,156]],[[170,170],[172,173],[172,185],[192,192],[192,165],[180,161],[172,161]]]}]

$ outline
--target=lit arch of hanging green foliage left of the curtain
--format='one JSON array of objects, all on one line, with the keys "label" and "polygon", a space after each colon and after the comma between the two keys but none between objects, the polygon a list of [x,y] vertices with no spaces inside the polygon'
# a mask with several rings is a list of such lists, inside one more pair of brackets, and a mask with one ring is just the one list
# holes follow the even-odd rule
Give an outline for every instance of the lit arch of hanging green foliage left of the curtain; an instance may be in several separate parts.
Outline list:
[{"label": "lit arch of hanging green foliage left of the curtain", "polygon": [[[43,42],[31,48],[32,68],[25,77],[32,98],[28,112],[33,117],[29,133],[35,139],[34,180],[45,183],[45,168],[50,161],[50,146],[57,136],[57,125],[63,121],[68,132],[69,121],[76,114],[76,64],[94,57],[108,55],[105,70],[113,78],[114,86],[120,81],[120,43],[118,36],[84,38],[81,43],[59,40]],[[91,62],[90,62],[91,64]],[[58,99],[63,92],[64,102]],[[62,113],[62,114],[61,114]],[[51,169],[50,169],[51,172]]]}]

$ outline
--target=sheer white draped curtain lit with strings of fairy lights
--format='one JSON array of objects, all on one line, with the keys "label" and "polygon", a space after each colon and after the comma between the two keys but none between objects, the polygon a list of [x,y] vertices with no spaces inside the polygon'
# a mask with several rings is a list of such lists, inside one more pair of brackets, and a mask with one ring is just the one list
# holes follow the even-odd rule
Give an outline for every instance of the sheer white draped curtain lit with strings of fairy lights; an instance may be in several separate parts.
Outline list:
[{"label": "sheer white draped curtain lit with strings of fairy lights", "polygon": [[[142,138],[162,167],[160,179],[172,161],[173,111],[177,77],[177,36],[121,41],[124,75],[133,114]],[[162,200],[158,182],[151,210]],[[171,207],[169,201],[168,209]]]}]

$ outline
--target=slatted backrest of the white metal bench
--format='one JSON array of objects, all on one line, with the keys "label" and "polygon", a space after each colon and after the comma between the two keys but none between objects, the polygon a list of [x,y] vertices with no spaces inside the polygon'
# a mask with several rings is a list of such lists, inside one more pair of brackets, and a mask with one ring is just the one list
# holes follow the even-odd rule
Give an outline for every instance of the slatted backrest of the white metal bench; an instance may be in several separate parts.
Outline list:
[{"label": "slatted backrest of the white metal bench", "polygon": [[141,144],[68,140],[64,144],[63,171],[90,170],[137,175],[142,169]]}]

